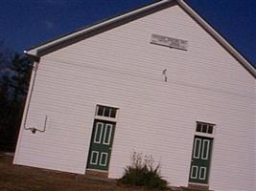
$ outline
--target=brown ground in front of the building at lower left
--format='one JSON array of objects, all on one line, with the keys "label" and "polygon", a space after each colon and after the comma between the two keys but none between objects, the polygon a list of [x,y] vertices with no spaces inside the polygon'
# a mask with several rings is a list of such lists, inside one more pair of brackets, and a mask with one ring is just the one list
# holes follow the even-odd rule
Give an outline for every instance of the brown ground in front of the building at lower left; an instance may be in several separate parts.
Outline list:
[{"label": "brown ground in front of the building at lower left", "polygon": [[12,165],[12,157],[0,153],[0,191],[146,191],[96,179],[26,166]]}]

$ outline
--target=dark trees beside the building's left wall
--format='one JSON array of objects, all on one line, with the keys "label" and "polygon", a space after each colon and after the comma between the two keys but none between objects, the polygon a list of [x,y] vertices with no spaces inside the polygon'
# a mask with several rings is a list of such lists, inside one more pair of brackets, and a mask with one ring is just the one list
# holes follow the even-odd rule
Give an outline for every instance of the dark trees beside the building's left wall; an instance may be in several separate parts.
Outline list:
[{"label": "dark trees beside the building's left wall", "polygon": [[32,63],[0,44],[0,150],[14,151],[28,92]]}]

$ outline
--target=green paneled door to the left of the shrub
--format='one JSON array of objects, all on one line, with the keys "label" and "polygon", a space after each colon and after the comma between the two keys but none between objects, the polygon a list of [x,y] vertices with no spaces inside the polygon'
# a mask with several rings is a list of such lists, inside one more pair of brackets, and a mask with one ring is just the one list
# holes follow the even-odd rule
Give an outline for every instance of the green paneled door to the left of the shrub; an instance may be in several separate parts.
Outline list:
[{"label": "green paneled door to the left of the shrub", "polygon": [[109,159],[115,132],[115,122],[94,120],[89,156],[88,169],[108,170]]}]

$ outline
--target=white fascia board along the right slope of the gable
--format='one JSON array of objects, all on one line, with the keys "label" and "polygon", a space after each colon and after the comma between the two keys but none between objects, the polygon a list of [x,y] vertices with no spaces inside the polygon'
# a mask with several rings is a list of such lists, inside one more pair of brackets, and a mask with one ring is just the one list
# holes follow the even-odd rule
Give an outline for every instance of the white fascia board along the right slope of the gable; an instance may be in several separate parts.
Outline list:
[{"label": "white fascia board along the right slope of the gable", "polygon": [[196,11],[189,7],[183,0],[176,0],[178,5],[190,14],[207,32],[209,32],[229,53],[231,53],[243,66],[244,68],[256,77],[256,70],[251,64],[244,58],[244,56],[236,51],[222,36],[219,32],[215,31],[207,22],[205,22]]}]

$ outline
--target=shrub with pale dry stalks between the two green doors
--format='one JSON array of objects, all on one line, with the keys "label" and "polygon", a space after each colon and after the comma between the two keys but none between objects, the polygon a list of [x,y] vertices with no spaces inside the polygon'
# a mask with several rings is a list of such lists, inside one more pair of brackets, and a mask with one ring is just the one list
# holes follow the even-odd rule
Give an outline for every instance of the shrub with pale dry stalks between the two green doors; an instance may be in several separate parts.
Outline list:
[{"label": "shrub with pale dry stalks between the two green doors", "polygon": [[160,165],[153,167],[153,159],[149,156],[134,152],[131,156],[131,165],[125,168],[123,177],[119,180],[123,184],[145,186],[164,190],[168,182],[160,176]]}]

